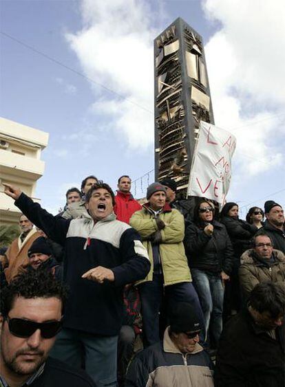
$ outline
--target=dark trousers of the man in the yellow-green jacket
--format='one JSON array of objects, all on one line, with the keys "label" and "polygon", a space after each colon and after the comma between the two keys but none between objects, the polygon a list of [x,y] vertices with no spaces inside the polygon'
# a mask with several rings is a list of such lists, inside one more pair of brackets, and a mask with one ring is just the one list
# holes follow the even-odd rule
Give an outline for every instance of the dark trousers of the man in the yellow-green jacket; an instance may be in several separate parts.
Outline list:
[{"label": "dark trousers of the man in the yellow-green jacket", "polygon": [[[151,282],[139,285],[139,291],[142,304],[142,333],[145,347],[160,340],[159,312],[163,297],[167,299],[167,304],[170,308],[177,302],[189,302],[196,309],[202,329],[204,329],[204,317],[199,298],[191,283],[177,283],[164,288],[162,274],[154,274]],[[203,340],[203,334],[201,340]]]}]

